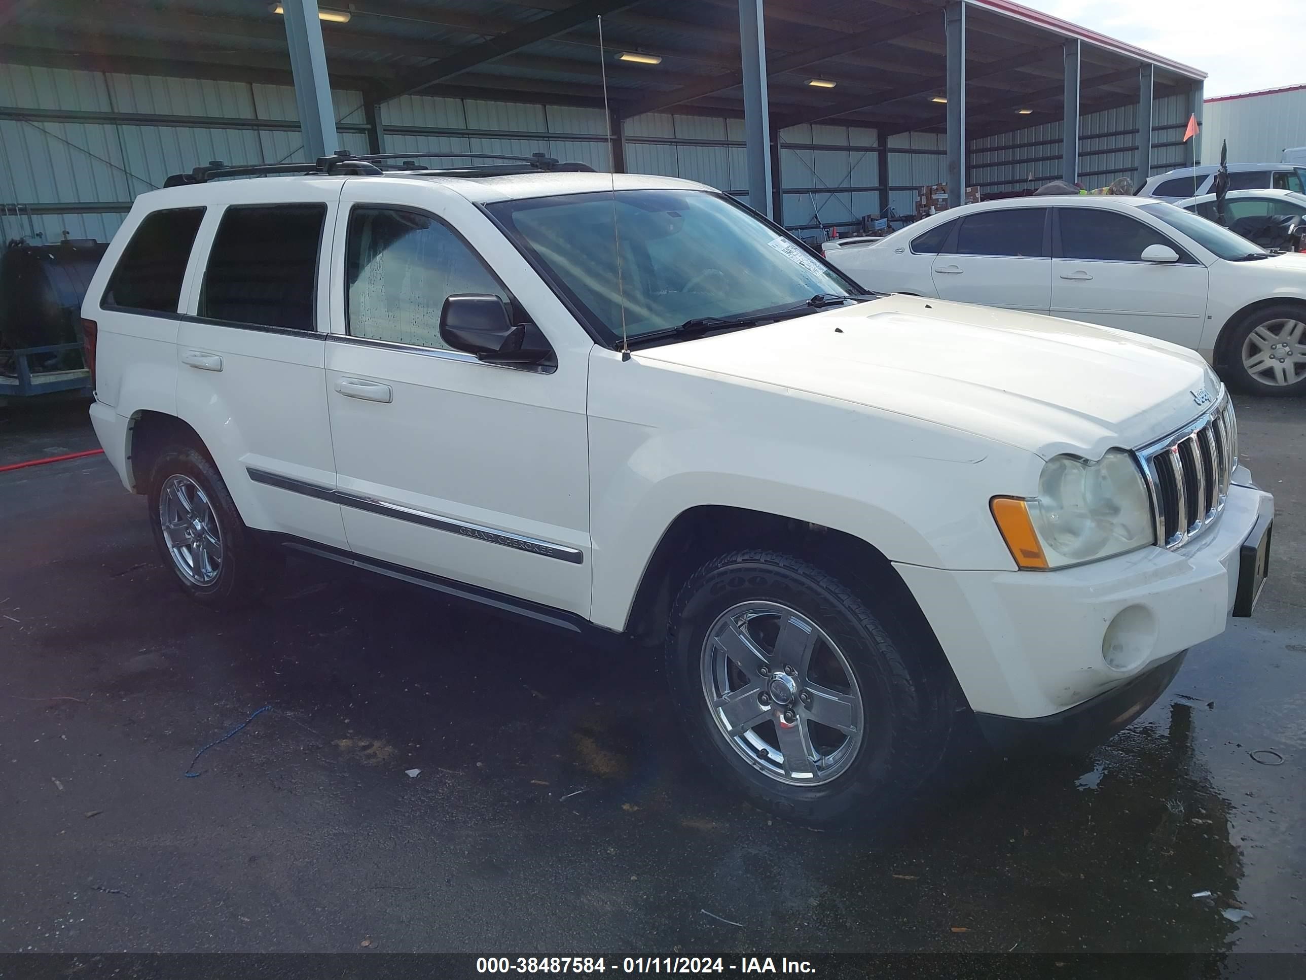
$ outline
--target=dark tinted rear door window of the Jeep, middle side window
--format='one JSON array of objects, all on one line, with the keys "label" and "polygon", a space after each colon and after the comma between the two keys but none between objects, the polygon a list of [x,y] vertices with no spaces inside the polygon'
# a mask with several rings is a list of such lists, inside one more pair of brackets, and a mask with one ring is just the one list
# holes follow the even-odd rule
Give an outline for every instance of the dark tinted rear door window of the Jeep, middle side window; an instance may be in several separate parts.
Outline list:
[{"label": "dark tinted rear door window of the Jeep, middle side window", "polygon": [[325,204],[232,206],[204,270],[199,315],[210,320],[316,329],[317,250]]}]

